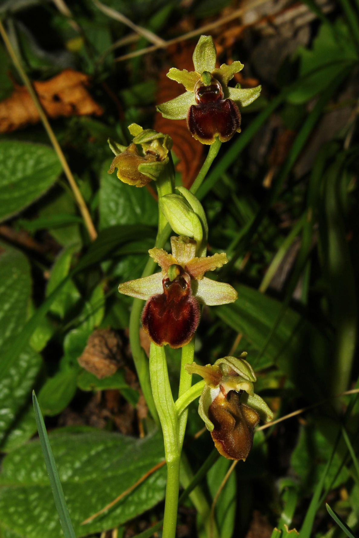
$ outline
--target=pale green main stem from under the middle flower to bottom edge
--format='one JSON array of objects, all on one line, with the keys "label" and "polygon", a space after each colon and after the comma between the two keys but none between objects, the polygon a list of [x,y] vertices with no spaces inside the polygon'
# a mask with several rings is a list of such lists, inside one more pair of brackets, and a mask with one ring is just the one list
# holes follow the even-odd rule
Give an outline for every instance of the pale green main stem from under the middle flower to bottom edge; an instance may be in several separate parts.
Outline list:
[{"label": "pale green main stem from under the middle flower to bottom edge", "polygon": [[164,347],[151,343],[150,377],[154,404],[163,431],[165,458],[167,463],[167,484],[165,513],[163,522],[163,538],[175,538],[179,471],[180,446],[178,438],[178,415],[172,398],[170,380],[168,379],[166,353]]}]

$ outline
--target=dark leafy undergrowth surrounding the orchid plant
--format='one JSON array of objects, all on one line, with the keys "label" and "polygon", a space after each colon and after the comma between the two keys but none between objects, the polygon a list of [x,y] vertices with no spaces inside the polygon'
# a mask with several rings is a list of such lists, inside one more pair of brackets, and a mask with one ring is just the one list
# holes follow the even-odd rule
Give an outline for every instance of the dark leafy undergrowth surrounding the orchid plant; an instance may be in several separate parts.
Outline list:
[{"label": "dark leafy undergrowth surrounding the orchid plant", "polygon": [[[276,419],[303,411],[258,431],[247,461],[228,475],[231,462],[214,456],[193,404],[186,476],[199,473],[222,538],[285,537],[285,525],[301,538],[355,535],[358,398],[334,395],[358,387],[357,8],[350,0],[0,4],[13,51],[36,81],[69,165],[64,173],[60,150],[2,43],[2,538],[62,536],[36,435],[33,389],[76,536],[130,538],[162,517],[161,435],[131,360],[131,300],[117,293],[119,282],[142,273],[157,203],[151,187],[131,188],[107,173],[106,140],[128,145],[132,122],[171,134],[176,180],[191,185],[207,150],[184,123],[158,117],[155,104],[176,95],[178,84],[165,73],[191,67],[201,33],[213,35],[221,63],[244,63],[236,82],[259,81],[263,89],[243,109],[242,133],[222,145],[198,192],[209,253],[226,251],[230,260],[217,276],[236,287],[239,299],[203,310],[196,360],[247,351],[256,392]],[[97,341],[86,348],[93,334]],[[145,338],[143,345],[148,349]],[[80,366],[85,348],[85,359],[101,359],[107,377]],[[178,353],[171,355],[175,383]],[[111,509],[81,525],[142,477]],[[205,536],[188,495],[180,502],[178,536]]]}]

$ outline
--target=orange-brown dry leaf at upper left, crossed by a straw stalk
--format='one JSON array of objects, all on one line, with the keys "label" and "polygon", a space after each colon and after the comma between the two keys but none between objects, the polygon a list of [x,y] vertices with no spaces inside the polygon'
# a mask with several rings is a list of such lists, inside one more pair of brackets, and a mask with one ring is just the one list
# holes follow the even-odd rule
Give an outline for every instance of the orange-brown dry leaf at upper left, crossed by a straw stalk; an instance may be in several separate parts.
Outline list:
[{"label": "orange-brown dry leaf at upper left, crossed by a straw stalk", "polygon": [[[93,100],[86,86],[90,77],[65,69],[46,82],[34,82],[39,100],[50,118],[59,116],[100,116],[103,109]],[[0,132],[11,132],[40,120],[25,86],[15,85],[10,97],[0,102]]]}]

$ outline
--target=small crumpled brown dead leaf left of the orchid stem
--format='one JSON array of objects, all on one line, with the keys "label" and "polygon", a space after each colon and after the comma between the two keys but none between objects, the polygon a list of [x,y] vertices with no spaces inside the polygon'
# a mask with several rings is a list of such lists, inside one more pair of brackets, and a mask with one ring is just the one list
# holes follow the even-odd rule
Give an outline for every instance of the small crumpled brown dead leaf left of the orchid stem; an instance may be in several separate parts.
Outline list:
[{"label": "small crumpled brown dead leaf left of the orchid stem", "polygon": [[98,379],[112,376],[119,366],[123,366],[121,346],[121,339],[115,331],[97,329],[89,337],[78,362]]}]

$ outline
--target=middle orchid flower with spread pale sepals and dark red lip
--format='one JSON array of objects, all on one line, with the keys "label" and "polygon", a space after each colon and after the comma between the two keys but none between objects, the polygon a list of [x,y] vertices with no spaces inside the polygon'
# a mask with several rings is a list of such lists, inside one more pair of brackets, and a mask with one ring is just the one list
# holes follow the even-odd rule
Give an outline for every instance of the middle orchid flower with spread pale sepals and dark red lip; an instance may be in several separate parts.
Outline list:
[{"label": "middle orchid flower with spread pale sepals and dark red lip", "polygon": [[172,254],[163,249],[149,250],[162,272],[130,280],[118,291],[146,300],[142,325],[152,342],[181,348],[187,344],[200,320],[199,303],[225,305],[237,299],[229,284],[204,277],[227,263],[224,253],[198,258],[196,242],[188,237],[171,237]]}]

